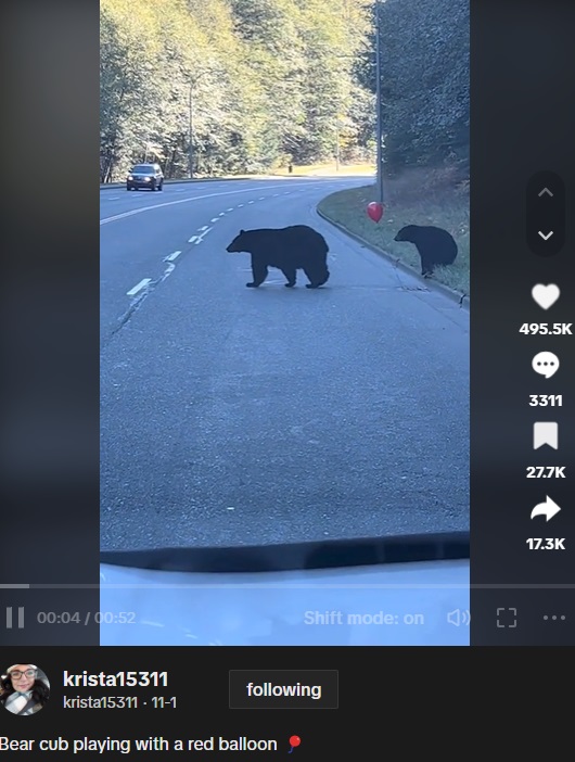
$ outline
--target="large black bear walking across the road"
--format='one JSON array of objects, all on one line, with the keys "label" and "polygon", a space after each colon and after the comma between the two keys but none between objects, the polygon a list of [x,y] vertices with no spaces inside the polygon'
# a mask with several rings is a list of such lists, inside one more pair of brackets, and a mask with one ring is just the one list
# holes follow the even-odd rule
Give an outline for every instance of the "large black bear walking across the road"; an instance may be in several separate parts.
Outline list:
[{"label": "large black bear walking across the road", "polygon": [[307,225],[289,228],[260,228],[240,230],[227,252],[248,252],[252,255],[254,280],[246,285],[257,289],[268,277],[268,267],[277,267],[288,278],[284,285],[295,285],[296,270],[304,270],[309,278],[307,289],[317,289],[330,277],[328,244],[323,236]]}]

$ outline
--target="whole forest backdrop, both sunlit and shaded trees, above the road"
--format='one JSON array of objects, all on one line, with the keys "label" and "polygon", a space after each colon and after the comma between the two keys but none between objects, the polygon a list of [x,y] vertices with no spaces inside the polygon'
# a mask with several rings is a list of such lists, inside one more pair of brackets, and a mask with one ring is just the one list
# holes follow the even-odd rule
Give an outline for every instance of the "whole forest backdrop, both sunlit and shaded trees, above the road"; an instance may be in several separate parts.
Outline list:
[{"label": "whole forest backdrop, both sunlit and shaded trees, above the road", "polygon": [[386,173],[469,176],[469,0],[100,9],[101,183],[152,161],[167,178],[374,163],[378,28]]}]

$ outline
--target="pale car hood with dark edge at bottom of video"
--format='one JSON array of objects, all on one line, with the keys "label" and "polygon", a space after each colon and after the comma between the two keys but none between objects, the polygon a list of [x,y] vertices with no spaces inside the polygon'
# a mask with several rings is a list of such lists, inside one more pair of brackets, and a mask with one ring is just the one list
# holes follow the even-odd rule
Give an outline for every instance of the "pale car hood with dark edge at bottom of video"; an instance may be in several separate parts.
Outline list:
[{"label": "pale car hood with dark edge at bottom of video", "polygon": [[401,542],[104,553],[101,645],[468,646],[469,535]]}]

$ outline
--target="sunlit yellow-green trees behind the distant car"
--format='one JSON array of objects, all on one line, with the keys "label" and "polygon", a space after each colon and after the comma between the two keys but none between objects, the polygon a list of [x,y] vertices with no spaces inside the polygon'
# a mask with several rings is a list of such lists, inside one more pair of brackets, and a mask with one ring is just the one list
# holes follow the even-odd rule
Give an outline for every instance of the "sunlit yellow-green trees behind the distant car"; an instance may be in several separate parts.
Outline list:
[{"label": "sunlit yellow-green trees behind the distant car", "polygon": [[[101,180],[266,172],[353,153],[372,124],[366,0],[102,0]],[[190,112],[193,129],[190,130]]]}]

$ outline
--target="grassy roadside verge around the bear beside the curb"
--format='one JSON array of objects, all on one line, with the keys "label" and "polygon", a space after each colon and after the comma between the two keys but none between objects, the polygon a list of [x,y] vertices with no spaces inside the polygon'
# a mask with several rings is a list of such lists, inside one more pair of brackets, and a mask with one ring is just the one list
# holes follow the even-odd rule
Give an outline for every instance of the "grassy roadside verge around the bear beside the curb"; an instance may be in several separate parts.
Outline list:
[{"label": "grassy roadside verge around the bear beside the curb", "polygon": [[458,256],[452,265],[437,267],[433,277],[455,291],[470,294],[469,183],[456,183],[449,170],[418,168],[384,180],[384,195],[385,209],[379,223],[367,214],[367,205],[378,198],[374,183],[332,193],[318,208],[417,272],[421,271],[418,251],[412,243],[394,241],[397,231],[405,225],[434,225],[448,230],[457,241]]}]

